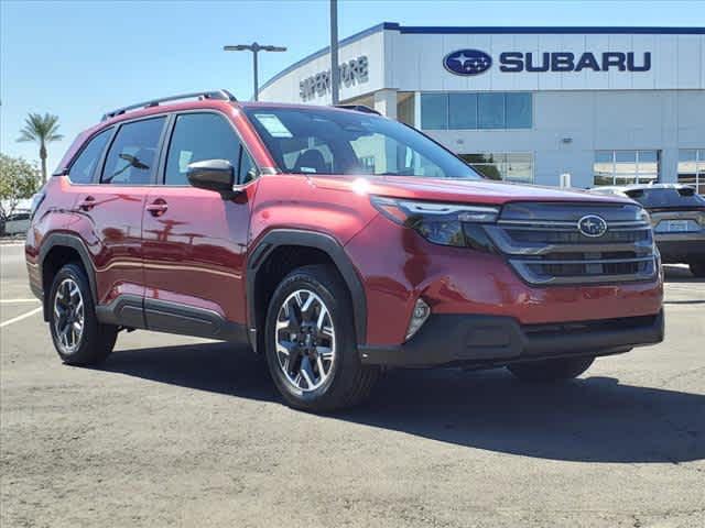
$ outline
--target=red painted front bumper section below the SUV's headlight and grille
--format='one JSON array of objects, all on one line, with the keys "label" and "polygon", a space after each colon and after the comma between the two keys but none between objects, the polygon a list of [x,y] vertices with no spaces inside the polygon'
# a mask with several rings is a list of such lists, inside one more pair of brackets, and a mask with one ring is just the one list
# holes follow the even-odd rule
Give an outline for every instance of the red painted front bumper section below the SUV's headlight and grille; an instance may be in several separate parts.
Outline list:
[{"label": "red painted front bumper section below the SUV's headlight and grille", "polygon": [[527,326],[652,316],[663,301],[659,276],[617,284],[532,286],[502,255],[432,244],[381,215],[345,249],[367,296],[367,339],[360,344],[404,342],[420,297],[437,316],[506,317]]}]

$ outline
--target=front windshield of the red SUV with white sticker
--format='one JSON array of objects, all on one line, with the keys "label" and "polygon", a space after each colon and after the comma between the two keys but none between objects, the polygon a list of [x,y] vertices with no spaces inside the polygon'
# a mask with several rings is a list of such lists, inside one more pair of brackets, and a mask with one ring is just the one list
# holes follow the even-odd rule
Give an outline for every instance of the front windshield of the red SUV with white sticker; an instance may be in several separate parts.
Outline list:
[{"label": "front windshield of the red SUV with white sticker", "polygon": [[481,179],[423,134],[375,114],[275,107],[245,112],[284,173]]}]

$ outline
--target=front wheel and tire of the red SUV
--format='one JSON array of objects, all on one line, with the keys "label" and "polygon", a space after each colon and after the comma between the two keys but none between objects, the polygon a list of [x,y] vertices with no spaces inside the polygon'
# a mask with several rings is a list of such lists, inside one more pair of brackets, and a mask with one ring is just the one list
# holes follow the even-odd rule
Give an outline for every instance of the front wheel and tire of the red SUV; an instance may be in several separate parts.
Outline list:
[{"label": "front wheel and tire of the red SUV", "polygon": [[265,354],[274,385],[295,409],[327,413],[366,399],[380,370],[357,352],[350,296],[325,265],[300,267],[276,287]]}]

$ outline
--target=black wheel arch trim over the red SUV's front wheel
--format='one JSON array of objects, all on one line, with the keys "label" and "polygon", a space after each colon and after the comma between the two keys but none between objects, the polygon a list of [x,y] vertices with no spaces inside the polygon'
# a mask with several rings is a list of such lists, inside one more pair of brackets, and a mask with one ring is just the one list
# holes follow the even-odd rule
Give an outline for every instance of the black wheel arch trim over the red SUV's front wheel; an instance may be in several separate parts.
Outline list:
[{"label": "black wheel arch trim over the red SUV's front wheel", "polygon": [[355,334],[358,345],[365,344],[367,342],[367,296],[365,295],[362,280],[343,245],[329,234],[318,231],[273,229],[260,239],[247,258],[247,326],[248,338],[252,349],[257,352],[257,310],[254,302],[257,274],[267,257],[282,245],[313,248],[323,251],[330,257],[350,290]]}]

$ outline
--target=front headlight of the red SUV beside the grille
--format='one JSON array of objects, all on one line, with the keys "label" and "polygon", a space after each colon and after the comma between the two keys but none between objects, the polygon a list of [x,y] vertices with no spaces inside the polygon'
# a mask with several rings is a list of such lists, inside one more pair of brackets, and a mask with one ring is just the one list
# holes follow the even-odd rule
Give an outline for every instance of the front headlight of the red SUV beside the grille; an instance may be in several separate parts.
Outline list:
[{"label": "front headlight of the red SUV beside the grille", "polygon": [[468,242],[471,224],[492,223],[499,209],[491,206],[466,206],[372,196],[372,205],[391,221],[413,229],[435,244],[474,246]]}]

